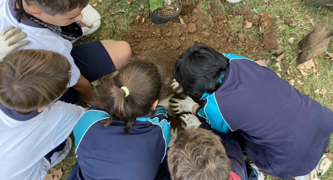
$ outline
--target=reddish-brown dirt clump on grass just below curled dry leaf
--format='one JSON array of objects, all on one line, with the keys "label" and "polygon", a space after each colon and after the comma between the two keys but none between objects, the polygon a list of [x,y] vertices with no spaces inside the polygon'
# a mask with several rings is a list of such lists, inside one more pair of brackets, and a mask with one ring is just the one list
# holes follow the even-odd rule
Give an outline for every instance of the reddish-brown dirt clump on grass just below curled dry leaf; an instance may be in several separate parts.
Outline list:
[{"label": "reddish-brown dirt clump on grass just below curled dry leaf", "polygon": [[277,35],[275,34],[275,29],[276,28],[274,26],[266,26],[263,33],[262,44],[264,45],[265,49],[270,51],[277,49]]}]

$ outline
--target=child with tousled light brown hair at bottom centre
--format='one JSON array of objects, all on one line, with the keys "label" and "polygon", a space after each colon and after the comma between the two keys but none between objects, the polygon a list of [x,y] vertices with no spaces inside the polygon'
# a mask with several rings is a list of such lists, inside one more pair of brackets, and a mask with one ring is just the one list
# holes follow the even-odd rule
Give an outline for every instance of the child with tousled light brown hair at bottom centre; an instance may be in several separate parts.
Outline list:
[{"label": "child with tousled light brown hair at bottom centre", "polygon": [[[185,130],[177,135],[167,153],[172,180],[264,179],[254,164],[250,165],[244,160],[235,139],[226,133],[209,131],[209,124],[201,124],[195,116],[189,118],[191,115],[181,116]],[[196,128],[197,125],[200,128]]]}]

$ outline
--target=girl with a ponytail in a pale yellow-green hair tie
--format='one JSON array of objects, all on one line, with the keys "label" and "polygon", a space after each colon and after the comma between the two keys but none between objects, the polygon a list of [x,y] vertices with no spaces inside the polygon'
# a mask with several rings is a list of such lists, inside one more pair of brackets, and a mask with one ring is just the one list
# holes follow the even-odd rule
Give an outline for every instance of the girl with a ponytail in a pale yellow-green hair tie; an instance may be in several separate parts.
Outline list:
[{"label": "girl with a ponytail in a pale yellow-green hair tie", "polygon": [[96,87],[96,99],[75,128],[78,162],[68,180],[154,180],[166,155],[169,96],[159,69],[131,61]]}]

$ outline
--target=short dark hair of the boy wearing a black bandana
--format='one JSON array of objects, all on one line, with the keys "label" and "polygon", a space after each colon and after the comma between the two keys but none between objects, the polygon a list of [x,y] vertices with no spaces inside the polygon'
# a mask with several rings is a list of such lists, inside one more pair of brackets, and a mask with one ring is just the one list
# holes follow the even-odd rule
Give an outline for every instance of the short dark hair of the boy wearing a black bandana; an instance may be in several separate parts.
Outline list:
[{"label": "short dark hair of the boy wearing a black bandana", "polygon": [[89,0],[24,0],[29,6],[33,5],[44,13],[55,16],[64,15],[76,8],[84,8]]}]

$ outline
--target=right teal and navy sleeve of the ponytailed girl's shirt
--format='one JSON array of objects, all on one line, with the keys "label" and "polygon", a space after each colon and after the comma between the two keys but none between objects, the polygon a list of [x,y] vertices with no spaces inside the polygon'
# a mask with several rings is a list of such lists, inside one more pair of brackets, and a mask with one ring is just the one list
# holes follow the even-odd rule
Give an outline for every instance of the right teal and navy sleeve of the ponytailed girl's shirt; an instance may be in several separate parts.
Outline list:
[{"label": "right teal and navy sleeve of the ponytailed girl's shirt", "polygon": [[156,113],[151,118],[151,122],[153,124],[158,124],[162,128],[163,137],[166,140],[166,147],[169,145],[170,141],[170,133],[171,133],[171,126],[170,120],[166,115],[166,109],[162,106],[157,106],[155,108]]}]

